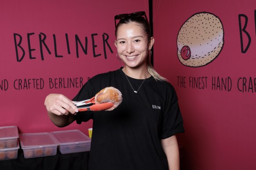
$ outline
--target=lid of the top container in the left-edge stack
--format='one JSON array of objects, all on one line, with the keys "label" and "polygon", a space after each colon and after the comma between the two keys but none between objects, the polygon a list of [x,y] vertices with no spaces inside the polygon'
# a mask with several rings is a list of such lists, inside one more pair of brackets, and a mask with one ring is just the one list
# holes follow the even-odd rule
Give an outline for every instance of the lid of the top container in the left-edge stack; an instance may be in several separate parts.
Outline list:
[{"label": "lid of the top container in the left-edge stack", "polygon": [[0,127],[0,140],[2,139],[14,139],[18,138],[18,127],[17,126],[4,126]]}]

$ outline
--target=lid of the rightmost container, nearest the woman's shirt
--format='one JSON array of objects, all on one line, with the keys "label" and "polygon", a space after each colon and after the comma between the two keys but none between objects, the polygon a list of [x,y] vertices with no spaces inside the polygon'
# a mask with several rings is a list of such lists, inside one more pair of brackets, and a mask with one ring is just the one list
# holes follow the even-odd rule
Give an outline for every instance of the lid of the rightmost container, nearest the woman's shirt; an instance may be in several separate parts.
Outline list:
[{"label": "lid of the rightmost container, nearest the woman's shirt", "polygon": [[78,129],[51,133],[58,140],[60,145],[91,142],[91,139]]}]

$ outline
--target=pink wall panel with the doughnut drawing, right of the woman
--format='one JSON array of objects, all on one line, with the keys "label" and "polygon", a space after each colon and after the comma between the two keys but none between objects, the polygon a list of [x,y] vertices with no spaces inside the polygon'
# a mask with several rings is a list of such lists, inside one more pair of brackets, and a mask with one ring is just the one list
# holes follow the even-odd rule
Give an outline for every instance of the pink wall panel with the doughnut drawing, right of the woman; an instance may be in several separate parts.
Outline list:
[{"label": "pink wall panel with the doughnut drawing, right of the woman", "polygon": [[[255,10],[255,0],[247,0],[246,3],[242,0],[153,2],[154,66],[174,85],[178,93],[185,125],[185,133],[178,135],[178,139],[183,156],[181,164],[187,167],[186,169],[256,169]],[[218,30],[218,33],[210,31],[210,34],[214,35],[205,36],[203,29],[195,29],[193,21],[199,21],[196,20],[195,14],[201,12],[217,16],[224,33],[220,34],[221,30]],[[243,50],[248,45],[246,52],[241,49],[239,14],[244,14],[240,25],[245,28],[241,33]],[[187,22],[187,29],[182,28],[190,17],[194,20]],[[246,17],[248,24],[245,27]],[[209,18],[201,19],[204,22],[202,24],[209,21]],[[194,27],[191,28],[192,25]],[[214,25],[207,23],[204,28],[209,30]],[[198,27],[202,28],[202,25]],[[177,42],[180,30],[184,31],[182,43]],[[249,36],[245,32],[250,36],[250,44]],[[209,40],[198,41],[199,34]],[[178,53],[181,51],[178,50],[181,50],[183,45],[190,47],[190,61],[194,62],[196,59],[193,60],[192,56],[207,50],[212,51],[207,43],[212,43],[210,40],[217,41],[214,37],[217,34],[220,34],[217,38],[221,40],[224,36],[224,45],[220,47],[221,51],[216,52],[213,59],[210,59],[212,62],[196,67],[186,66],[181,62],[182,59],[180,61]],[[201,60],[197,59],[198,62]],[[190,81],[192,78],[198,81],[197,86]],[[221,80],[224,80],[224,83]],[[226,89],[224,85],[227,86]]]}]

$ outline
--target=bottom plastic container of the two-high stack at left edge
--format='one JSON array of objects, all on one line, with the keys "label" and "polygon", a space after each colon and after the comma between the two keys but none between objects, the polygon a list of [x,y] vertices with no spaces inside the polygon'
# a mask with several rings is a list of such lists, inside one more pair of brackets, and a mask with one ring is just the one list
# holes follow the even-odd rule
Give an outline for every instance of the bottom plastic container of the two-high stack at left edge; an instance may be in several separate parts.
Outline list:
[{"label": "bottom plastic container of the two-high stack at left edge", "polygon": [[14,148],[0,149],[0,161],[1,160],[14,160],[18,157],[18,149],[20,148],[18,140],[16,141]]}]

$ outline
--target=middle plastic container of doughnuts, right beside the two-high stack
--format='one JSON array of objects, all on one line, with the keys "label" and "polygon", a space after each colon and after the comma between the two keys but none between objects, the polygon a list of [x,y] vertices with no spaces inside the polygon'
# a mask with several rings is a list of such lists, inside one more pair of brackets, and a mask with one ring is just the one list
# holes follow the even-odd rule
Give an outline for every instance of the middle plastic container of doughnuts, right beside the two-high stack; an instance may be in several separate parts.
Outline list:
[{"label": "middle plastic container of doughnuts, right beside the two-high stack", "polygon": [[50,133],[19,134],[25,158],[53,156],[57,154],[57,141]]}]

